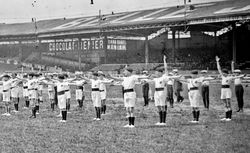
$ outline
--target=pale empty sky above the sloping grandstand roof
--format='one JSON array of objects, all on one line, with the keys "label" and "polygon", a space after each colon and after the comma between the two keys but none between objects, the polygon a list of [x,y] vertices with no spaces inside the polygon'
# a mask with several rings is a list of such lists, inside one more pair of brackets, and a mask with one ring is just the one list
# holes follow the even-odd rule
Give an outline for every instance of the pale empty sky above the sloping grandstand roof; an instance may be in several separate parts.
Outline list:
[{"label": "pale empty sky above the sloping grandstand roof", "polygon": [[[0,0],[0,23],[74,18],[158,7],[183,5],[184,0]],[[188,3],[189,0],[187,0]],[[191,0],[191,4],[223,0]]]}]

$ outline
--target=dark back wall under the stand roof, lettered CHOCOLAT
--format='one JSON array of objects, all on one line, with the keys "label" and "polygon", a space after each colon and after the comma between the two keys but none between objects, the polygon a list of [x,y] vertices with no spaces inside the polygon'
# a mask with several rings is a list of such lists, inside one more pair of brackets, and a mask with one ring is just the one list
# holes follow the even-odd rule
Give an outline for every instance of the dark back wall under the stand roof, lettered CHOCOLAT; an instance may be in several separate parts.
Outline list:
[{"label": "dark back wall under the stand roof, lettered CHOCOLAT", "polygon": [[[178,37],[177,37],[178,38]],[[165,43],[165,48],[162,44]],[[189,38],[176,39],[176,51],[199,50],[208,52],[215,47],[225,48],[229,40],[215,41],[214,37],[204,35],[202,32],[190,32]],[[206,48],[208,51],[204,50]],[[163,52],[171,54],[172,39],[162,34],[149,41],[149,62],[161,63]],[[112,38],[80,37],[78,35],[61,38],[46,38],[37,43],[34,40],[18,40],[0,42],[1,57],[18,57],[24,61],[32,52],[42,56],[56,59],[72,60],[82,63],[96,64],[124,64],[145,62],[145,41],[121,40]],[[178,55],[178,54],[177,54]],[[170,55],[169,55],[170,56]],[[170,56],[171,57],[171,56]],[[181,61],[182,62],[182,61]],[[58,63],[60,64],[60,63]]]}]

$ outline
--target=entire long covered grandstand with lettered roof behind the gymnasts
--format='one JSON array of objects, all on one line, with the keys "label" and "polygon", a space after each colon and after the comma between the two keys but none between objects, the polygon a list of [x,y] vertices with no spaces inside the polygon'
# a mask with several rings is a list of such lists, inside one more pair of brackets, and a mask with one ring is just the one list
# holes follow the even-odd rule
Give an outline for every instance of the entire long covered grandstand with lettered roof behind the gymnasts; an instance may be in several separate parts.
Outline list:
[{"label": "entire long covered grandstand with lettered roof behind the gymnasts", "polygon": [[0,24],[0,56],[46,70],[118,72],[154,69],[163,55],[171,68],[215,69],[218,55],[225,67],[234,60],[249,69],[249,20],[249,0],[227,0]]}]

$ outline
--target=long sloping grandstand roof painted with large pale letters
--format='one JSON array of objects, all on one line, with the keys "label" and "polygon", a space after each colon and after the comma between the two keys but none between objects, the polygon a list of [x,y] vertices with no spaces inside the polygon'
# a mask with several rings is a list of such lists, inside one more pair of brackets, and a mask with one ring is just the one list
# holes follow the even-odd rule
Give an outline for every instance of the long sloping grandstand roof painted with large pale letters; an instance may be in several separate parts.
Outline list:
[{"label": "long sloping grandstand roof painted with large pale letters", "polygon": [[250,19],[249,0],[227,0],[151,10],[123,12],[74,19],[42,20],[36,23],[0,24],[0,36],[35,35],[51,37],[70,34],[159,29]]}]

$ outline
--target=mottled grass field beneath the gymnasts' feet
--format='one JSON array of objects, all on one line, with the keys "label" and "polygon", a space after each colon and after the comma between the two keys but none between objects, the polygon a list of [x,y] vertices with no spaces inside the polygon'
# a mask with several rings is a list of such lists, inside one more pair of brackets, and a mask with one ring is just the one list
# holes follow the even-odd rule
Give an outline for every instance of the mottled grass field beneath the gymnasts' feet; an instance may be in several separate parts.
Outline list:
[{"label": "mottled grass field beneath the gymnasts' feet", "polygon": [[[167,126],[158,127],[158,114],[153,103],[143,107],[138,99],[135,110],[136,128],[127,124],[120,87],[108,87],[108,114],[101,121],[95,117],[86,93],[85,109],[72,109],[67,123],[59,123],[57,112],[51,112],[44,102],[36,119],[29,119],[30,111],[23,110],[10,117],[0,116],[0,153],[247,153],[250,152],[250,89],[245,88],[244,113],[236,113],[233,98],[233,120],[221,122],[224,107],[219,100],[219,86],[211,85],[211,109],[201,107],[199,124],[191,124],[188,100],[168,110]],[[186,97],[186,93],[184,93]],[[72,95],[74,98],[74,95]],[[21,105],[23,105],[23,101]],[[1,104],[2,105],[2,104]],[[202,103],[201,103],[201,106]],[[4,109],[1,107],[1,112]]]}]

